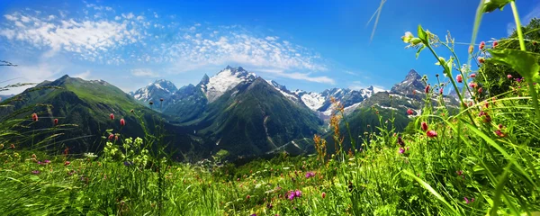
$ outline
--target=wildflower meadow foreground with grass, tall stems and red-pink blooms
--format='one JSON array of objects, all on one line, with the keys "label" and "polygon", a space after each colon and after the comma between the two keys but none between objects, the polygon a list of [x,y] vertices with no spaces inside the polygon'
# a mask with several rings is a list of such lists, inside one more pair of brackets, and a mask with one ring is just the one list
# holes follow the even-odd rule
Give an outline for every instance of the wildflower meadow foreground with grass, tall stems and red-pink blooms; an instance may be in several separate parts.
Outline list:
[{"label": "wildflower meadow foreground with grass, tall stems and red-pink blooms", "polygon": [[[373,105],[376,121],[354,134],[332,99],[329,132],[308,138],[310,154],[233,160],[220,150],[182,161],[166,141],[166,120],[125,104],[101,114],[100,150],[80,152],[56,143],[85,125],[63,122],[69,113],[42,117],[58,105],[9,112],[0,121],[0,215],[539,215],[540,20],[522,26],[514,1],[480,2],[467,59],[430,26],[401,38],[441,71],[411,93],[419,110],[397,109],[400,98],[388,94],[391,109]],[[517,32],[478,42],[482,15],[505,5]],[[402,130],[398,115],[410,119]],[[138,135],[125,135],[130,128]]]}]

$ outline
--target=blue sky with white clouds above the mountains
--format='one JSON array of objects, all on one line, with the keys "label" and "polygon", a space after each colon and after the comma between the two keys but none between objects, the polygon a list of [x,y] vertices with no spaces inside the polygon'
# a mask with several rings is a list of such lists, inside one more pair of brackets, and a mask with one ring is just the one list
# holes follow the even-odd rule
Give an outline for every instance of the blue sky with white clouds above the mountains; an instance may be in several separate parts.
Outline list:
[{"label": "blue sky with white clouds above the mountains", "polygon": [[[411,68],[441,72],[428,52],[415,59],[414,49],[404,49],[405,31],[416,34],[421,23],[468,43],[478,3],[388,0],[370,40],[373,23],[366,23],[378,0],[9,1],[0,4],[0,59],[19,67],[0,67],[0,82],[68,74],[132,91],[162,78],[196,84],[231,65],[292,90],[390,89]],[[540,1],[517,4],[524,23],[540,16]],[[512,23],[509,7],[486,14],[478,39],[508,36]],[[467,48],[456,46],[463,58]]]}]

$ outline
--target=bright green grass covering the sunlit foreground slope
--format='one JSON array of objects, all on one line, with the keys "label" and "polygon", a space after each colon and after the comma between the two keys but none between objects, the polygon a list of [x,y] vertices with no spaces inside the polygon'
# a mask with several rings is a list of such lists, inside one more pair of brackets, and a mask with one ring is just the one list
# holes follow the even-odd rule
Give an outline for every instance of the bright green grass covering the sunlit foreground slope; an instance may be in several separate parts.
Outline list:
[{"label": "bright green grass covering the sunlit foreground slope", "polygon": [[[504,1],[498,3],[501,2]],[[482,4],[484,1],[479,7],[477,24],[482,17]],[[450,81],[444,82],[457,88],[452,75],[453,62],[458,62],[457,59],[439,58],[434,49],[435,44],[442,44],[454,52],[454,44],[437,40],[436,35],[421,27],[418,34],[419,38],[411,36],[410,46],[428,48],[449,75]],[[473,54],[473,58],[477,55]],[[511,58],[515,57],[505,57]],[[485,71],[493,72],[490,67],[459,73],[463,77],[471,73],[482,77]],[[329,150],[324,159],[281,153],[272,159],[235,165],[222,163],[227,153],[220,151],[211,160],[176,163],[164,150],[162,133],[150,133],[145,127],[144,134],[140,134],[142,139],[132,140],[119,134],[121,139],[107,141],[106,148],[96,157],[48,155],[40,150],[10,148],[13,137],[37,136],[16,130],[35,121],[16,118],[2,121],[0,212],[4,215],[540,214],[540,122],[537,105],[532,100],[539,85],[529,85],[530,80],[512,80],[508,92],[492,94],[487,86],[493,83],[468,78],[467,81],[486,86],[482,93],[480,86],[471,87],[475,92],[471,105],[463,105],[451,115],[449,110],[457,108],[447,107],[443,100],[432,103],[432,95],[442,97],[435,95],[437,90],[434,92],[436,87],[433,87],[423,103],[422,114],[410,119],[405,132],[396,130],[403,128],[405,120],[396,119],[392,110],[390,114],[379,112],[377,106],[372,108],[369,120],[348,124],[352,126],[350,129],[344,128],[343,122],[332,121],[330,126],[335,133],[327,145],[338,148]],[[82,94],[82,97],[97,98],[102,90],[96,89],[95,94]],[[469,103],[461,94],[460,101]],[[360,116],[366,112],[369,111],[362,110]],[[141,116],[135,118],[143,122]],[[362,134],[347,134],[356,132],[365,123],[375,126]],[[428,136],[433,132],[437,136]],[[361,136],[356,141],[359,148],[349,152],[342,149],[348,145],[340,142],[343,137],[350,139],[357,135]],[[50,163],[43,163],[46,160]]]}]

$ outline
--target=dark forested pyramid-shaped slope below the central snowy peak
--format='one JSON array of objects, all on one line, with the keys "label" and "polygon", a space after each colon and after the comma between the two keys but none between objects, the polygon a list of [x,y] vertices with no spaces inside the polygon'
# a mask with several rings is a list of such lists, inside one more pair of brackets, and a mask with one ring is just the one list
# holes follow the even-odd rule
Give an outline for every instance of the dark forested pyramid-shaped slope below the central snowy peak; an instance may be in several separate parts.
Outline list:
[{"label": "dark forested pyramid-shaped slope below the central snowy peak", "polygon": [[293,103],[264,79],[230,89],[188,122],[210,138],[214,152],[227,149],[239,156],[265,154],[293,139],[311,138],[322,121],[307,107]]}]

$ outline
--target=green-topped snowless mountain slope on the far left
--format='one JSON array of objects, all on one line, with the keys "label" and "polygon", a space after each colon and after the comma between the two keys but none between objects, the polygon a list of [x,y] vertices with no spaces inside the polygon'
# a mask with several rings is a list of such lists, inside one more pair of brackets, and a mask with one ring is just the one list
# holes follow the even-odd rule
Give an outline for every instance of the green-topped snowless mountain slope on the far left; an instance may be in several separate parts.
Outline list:
[{"label": "green-topped snowless mountain slope on the far left", "polygon": [[[58,88],[44,88],[33,91],[35,88],[55,86]],[[76,124],[76,127],[64,131],[64,135],[56,139],[58,148],[67,146],[73,153],[95,151],[103,148],[102,135],[106,129],[113,132],[121,132],[124,136],[143,137],[144,133],[133,113],[130,110],[142,114],[148,129],[152,130],[154,122],[161,118],[157,112],[153,112],[137,103],[129,94],[103,80],[85,81],[80,78],[62,76],[55,81],[45,81],[34,88],[17,95],[17,101],[4,101],[13,104],[10,110],[2,110],[0,116],[7,112],[13,112],[32,104],[50,104],[47,109],[43,106],[36,107],[31,112],[40,113],[40,121],[35,124],[36,128],[52,127],[52,119],[58,118],[60,124]],[[109,114],[115,115],[115,120],[110,120]],[[28,113],[27,113],[28,114]],[[1,117],[0,117],[1,118]],[[126,126],[121,128],[120,119],[126,121]],[[186,135],[187,130],[165,123],[167,133],[173,135],[167,139],[172,147],[183,151],[189,150],[189,144],[193,143],[191,136]]]}]

